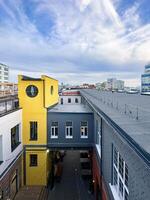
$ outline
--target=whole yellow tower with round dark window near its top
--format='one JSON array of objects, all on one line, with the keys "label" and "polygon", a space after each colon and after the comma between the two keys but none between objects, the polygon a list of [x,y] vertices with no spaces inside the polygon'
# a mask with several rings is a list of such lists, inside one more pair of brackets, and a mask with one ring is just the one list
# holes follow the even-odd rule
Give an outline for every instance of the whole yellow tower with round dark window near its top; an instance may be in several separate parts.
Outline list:
[{"label": "whole yellow tower with round dark window near its top", "polygon": [[58,81],[47,77],[18,77],[22,108],[24,184],[47,185],[50,161],[47,149],[47,108],[58,103]]}]

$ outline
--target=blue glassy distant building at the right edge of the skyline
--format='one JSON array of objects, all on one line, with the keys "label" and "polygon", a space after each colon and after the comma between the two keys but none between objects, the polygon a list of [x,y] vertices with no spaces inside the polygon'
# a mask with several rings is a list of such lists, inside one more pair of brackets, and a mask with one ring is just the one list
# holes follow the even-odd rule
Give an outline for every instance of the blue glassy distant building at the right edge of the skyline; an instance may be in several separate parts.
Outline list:
[{"label": "blue glassy distant building at the right edge of the skyline", "polygon": [[145,66],[145,73],[141,75],[141,93],[150,94],[150,64]]}]

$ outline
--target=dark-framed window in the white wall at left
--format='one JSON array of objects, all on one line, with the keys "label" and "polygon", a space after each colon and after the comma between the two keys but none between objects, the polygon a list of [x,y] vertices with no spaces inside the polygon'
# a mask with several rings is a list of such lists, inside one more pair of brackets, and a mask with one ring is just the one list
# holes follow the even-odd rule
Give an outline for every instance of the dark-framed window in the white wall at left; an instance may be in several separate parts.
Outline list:
[{"label": "dark-framed window in the white wall at left", "polygon": [[11,151],[14,151],[20,144],[19,142],[19,124],[11,129]]}]

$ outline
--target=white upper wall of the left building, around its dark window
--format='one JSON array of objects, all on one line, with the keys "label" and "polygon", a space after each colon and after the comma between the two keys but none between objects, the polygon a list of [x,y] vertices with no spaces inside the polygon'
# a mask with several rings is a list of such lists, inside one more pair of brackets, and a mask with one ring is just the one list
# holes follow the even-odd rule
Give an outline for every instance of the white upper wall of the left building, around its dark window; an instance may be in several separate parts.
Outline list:
[{"label": "white upper wall of the left building, around its dark window", "polygon": [[22,151],[22,143],[11,152],[11,128],[20,124],[19,140],[22,141],[22,110],[14,111],[0,117],[0,136],[2,136],[3,163],[0,165],[0,174],[10,165],[10,163]]}]

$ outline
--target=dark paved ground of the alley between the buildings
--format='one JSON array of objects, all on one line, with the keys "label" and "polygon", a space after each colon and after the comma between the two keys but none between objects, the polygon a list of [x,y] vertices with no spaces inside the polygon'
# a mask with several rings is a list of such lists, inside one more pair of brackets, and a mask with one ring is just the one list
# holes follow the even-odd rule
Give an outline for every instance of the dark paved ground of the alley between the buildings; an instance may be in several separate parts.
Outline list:
[{"label": "dark paved ground of the alley between the buildings", "polygon": [[88,184],[80,175],[79,151],[67,151],[63,161],[60,183],[55,183],[49,193],[49,200],[93,200],[88,192]]}]

